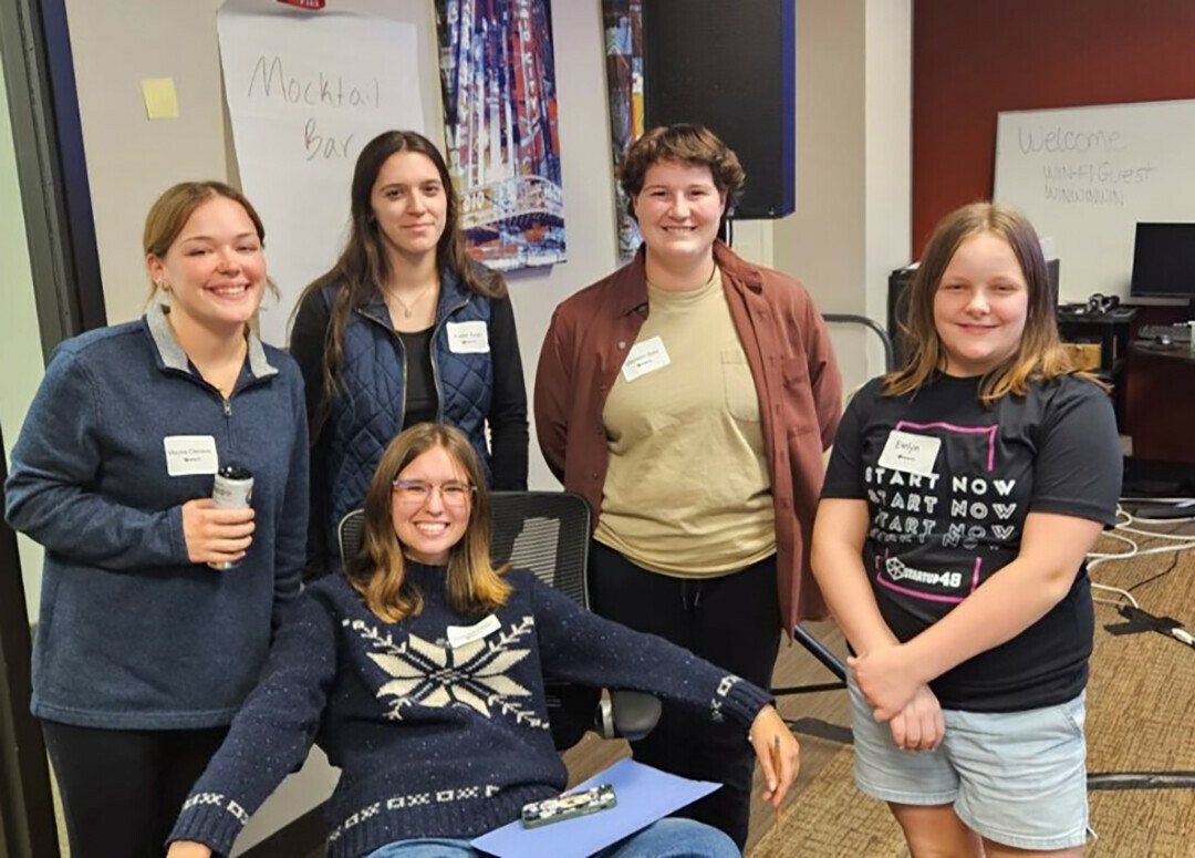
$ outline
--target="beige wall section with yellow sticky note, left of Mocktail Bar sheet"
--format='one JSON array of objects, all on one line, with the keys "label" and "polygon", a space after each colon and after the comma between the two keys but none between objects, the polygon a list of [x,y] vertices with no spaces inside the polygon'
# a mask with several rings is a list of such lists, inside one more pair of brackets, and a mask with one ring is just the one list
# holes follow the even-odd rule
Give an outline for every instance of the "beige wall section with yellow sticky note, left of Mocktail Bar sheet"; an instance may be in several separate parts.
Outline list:
[{"label": "beige wall section with yellow sticky note, left of Mocktail Bar sheet", "polygon": [[[66,0],[110,324],[142,312],[149,281],[141,231],[157,196],[176,182],[228,176],[215,29],[221,5],[122,0],[114,13],[110,4]],[[167,76],[179,118],[151,122],[141,80]]]}]

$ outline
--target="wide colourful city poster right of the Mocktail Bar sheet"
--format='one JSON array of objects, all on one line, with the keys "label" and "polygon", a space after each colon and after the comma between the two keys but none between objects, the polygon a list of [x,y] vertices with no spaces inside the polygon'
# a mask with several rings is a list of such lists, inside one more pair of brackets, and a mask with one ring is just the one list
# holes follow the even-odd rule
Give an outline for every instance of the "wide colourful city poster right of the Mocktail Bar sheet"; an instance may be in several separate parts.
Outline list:
[{"label": "wide colourful city poster right of the Mocktail Bar sheet", "polygon": [[436,0],[448,168],[478,261],[565,261],[547,0]]}]

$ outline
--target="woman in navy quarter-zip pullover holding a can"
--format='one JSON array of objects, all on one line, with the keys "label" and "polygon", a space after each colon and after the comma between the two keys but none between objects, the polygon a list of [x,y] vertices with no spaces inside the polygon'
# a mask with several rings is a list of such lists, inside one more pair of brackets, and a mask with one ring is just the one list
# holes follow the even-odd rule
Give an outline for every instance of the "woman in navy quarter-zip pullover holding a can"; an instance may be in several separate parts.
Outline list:
[{"label": "woman in navy quarter-zip pullover holding a can", "polygon": [[[45,547],[32,711],[75,858],[161,854],[299,592],[302,376],[251,329],[263,238],[232,188],[167,190],[146,315],[62,343],[13,448],[6,516]],[[249,509],[213,507],[226,465]]]}]

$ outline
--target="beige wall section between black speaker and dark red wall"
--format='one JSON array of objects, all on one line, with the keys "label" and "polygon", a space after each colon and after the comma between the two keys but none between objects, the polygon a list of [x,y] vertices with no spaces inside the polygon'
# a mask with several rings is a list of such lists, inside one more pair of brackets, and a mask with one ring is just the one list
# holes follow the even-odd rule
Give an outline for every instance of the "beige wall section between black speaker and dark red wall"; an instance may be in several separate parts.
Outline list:
[{"label": "beige wall section between black speaker and dark red wall", "polygon": [[[774,225],[776,266],[823,313],[884,320],[909,247],[908,0],[797,7],[797,212]],[[883,372],[877,341],[832,327],[847,390]]]}]

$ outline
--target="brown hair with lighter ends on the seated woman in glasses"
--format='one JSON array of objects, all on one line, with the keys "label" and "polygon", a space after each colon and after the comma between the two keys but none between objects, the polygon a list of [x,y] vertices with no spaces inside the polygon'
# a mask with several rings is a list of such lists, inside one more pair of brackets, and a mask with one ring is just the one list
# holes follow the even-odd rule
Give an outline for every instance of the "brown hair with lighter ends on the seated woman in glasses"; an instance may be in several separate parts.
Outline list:
[{"label": "brown hair with lighter ends on the seated woman in glasses", "polygon": [[495,569],[490,562],[490,496],[477,451],[454,427],[417,423],[382,453],[366,495],[361,551],[344,558],[349,583],[364,597],[366,607],[386,623],[417,617],[423,611],[423,594],[406,580],[407,560],[394,533],[391,504],[398,474],[436,447],[461,466],[473,486],[465,535],[448,551],[448,603],[458,613],[479,615],[496,611],[510,595],[510,584],[501,577],[505,569]]}]

